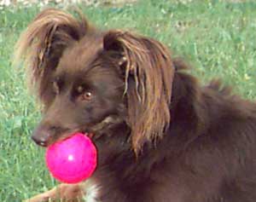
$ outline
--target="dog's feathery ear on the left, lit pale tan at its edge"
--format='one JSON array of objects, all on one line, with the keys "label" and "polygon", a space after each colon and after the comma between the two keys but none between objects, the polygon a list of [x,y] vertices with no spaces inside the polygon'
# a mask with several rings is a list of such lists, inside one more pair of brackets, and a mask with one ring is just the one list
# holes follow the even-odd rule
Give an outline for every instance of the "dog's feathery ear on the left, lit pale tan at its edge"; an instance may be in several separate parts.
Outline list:
[{"label": "dog's feathery ear on the left, lit pale tan at its edge", "polygon": [[15,63],[26,62],[29,82],[44,104],[52,97],[49,84],[64,49],[88,30],[81,14],[77,20],[59,9],[44,9],[20,36],[15,46]]}]

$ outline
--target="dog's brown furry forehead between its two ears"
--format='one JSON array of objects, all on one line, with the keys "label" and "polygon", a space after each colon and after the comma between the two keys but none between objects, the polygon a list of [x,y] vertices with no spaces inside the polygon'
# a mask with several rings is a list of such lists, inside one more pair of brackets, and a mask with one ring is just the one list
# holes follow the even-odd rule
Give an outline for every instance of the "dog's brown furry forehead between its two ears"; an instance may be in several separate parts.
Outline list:
[{"label": "dog's brown furry forehead between its two ears", "polygon": [[102,36],[85,36],[67,48],[60,60],[57,72],[69,74],[86,71],[102,52]]}]

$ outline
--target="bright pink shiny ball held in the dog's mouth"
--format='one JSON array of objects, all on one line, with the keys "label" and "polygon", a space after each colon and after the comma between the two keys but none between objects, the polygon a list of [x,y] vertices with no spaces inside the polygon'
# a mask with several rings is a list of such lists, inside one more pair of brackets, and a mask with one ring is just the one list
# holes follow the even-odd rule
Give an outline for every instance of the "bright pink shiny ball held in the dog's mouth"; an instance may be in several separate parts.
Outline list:
[{"label": "bright pink shiny ball held in the dog's mouth", "polygon": [[88,136],[75,133],[64,141],[50,145],[45,160],[55,179],[66,183],[81,182],[96,169],[96,147]]}]

